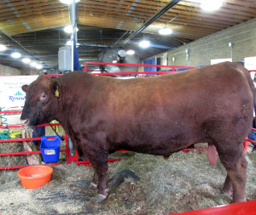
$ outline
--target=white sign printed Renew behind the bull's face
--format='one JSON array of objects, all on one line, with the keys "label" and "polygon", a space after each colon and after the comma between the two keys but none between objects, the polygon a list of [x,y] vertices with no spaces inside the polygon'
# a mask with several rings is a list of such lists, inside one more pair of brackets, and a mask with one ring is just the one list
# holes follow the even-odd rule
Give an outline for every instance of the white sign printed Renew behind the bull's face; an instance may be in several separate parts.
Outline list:
[{"label": "white sign printed Renew behind the bull's face", "polygon": [[21,87],[30,84],[38,76],[0,76],[0,107],[10,108],[23,106],[26,93]]}]

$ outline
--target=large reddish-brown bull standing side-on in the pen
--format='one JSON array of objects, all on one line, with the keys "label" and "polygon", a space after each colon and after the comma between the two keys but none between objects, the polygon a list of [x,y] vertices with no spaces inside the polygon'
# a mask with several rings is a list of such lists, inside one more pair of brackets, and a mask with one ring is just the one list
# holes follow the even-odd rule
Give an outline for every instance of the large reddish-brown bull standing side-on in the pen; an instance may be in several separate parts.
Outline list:
[{"label": "large reddish-brown bull standing side-on in the pen", "polygon": [[82,71],[54,80],[40,76],[24,87],[20,119],[29,126],[43,123],[42,108],[49,120],[61,122],[94,167],[98,197],[107,196],[108,153],[123,149],[170,156],[207,142],[228,171],[224,191],[231,192],[233,183],[233,201],[245,201],[247,162],[241,144],[253,122],[252,80],[246,72],[241,65],[221,63],[129,80]]}]

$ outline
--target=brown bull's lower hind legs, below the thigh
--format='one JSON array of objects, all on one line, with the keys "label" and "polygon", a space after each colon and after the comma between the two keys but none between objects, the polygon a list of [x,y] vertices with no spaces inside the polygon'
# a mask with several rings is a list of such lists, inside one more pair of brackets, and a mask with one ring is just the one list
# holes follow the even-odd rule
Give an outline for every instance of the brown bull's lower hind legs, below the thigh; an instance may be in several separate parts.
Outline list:
[{"label": "brown bull's lower hind legs, below the thigh", "polygon": [[233,202],[246,201],[247,160],[242,144],[225,144],[217,147],[218,156],[224,165],[227,176],[223,191],[230,195],[233,192]]}]

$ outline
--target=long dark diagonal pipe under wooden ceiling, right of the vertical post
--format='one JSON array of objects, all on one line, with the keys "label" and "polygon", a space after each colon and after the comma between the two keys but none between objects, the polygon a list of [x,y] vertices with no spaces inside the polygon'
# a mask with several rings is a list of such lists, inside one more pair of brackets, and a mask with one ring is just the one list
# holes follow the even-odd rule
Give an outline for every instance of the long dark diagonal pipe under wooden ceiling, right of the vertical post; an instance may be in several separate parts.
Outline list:
[{"label": "long dark diagonal pipe under wooden ceiling, right of the vertical post", "polygon": [[173,6],[175,6],[179,1],[180,1],[180,0],[172,0],[172,2],[167,3],[164,8],[161,8],[159,12],[157,12],[157,13],[154,14],[151,18],[149,18],[137,31],[134,31],[129,37],[127,37],[127,38],[125,39],[125,41],[122,42],[122,44],[125,44],[126,42],[129,42],[132,37],[137,36],[138,33],[140,33],[141,31],[143,31],[145,28],[148,27],[148,25],[152,24],[155,20],[157,20],[158,18],[160,18],[160,16],[161,16],[162,14],[165,14],[170,8],[172,8]]}]

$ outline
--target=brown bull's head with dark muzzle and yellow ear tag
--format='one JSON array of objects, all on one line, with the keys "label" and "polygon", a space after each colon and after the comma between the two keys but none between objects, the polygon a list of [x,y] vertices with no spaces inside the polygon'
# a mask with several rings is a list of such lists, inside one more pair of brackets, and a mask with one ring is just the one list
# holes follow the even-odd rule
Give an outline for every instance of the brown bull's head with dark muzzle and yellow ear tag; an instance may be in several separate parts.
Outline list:
[{"label": "brown bull's head with dark muzzle and yellow ear tag", "polygon": [[60,82],[38,76],[29,86],[23,85],[22,90],[26,101],[20,116],[21,125],[32,127],[53,120],[52,107],[59,97]]}]

